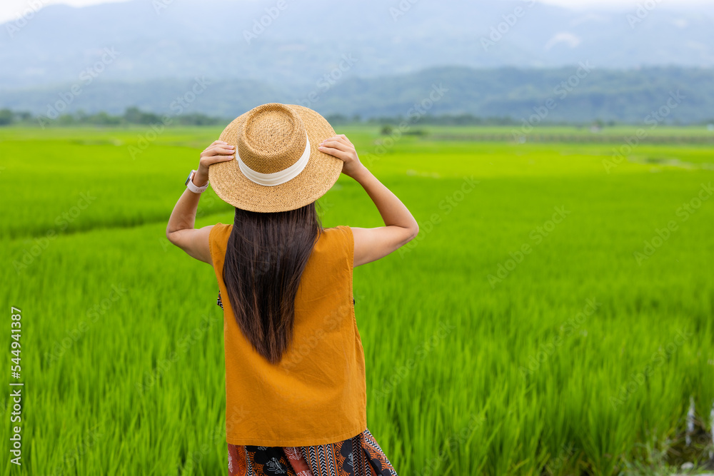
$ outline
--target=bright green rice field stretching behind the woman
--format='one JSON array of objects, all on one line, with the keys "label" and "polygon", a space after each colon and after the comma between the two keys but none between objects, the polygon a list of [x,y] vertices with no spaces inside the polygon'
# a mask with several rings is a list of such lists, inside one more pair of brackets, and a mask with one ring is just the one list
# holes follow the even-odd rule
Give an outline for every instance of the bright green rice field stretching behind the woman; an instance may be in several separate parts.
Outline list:
[{"label": "bright green rice field stretching behind the woman", "polygon": [[[420,224],[353,280],[368,428],[398,474],[705,467],[714,143],[628,149],[635,128],[610,143],[420,129],[336,128]],[[2,396],[1,474],[227,474],[216,277],[165,235],[221,130],[0,128],[0,340],[6,384],[24,383]],[[320,203],[323,226],[382,224],[345,176]],[[209,188],[196,227],[232,223],[232,210]],[[20,467],[8,451],[18,425]]]}]

